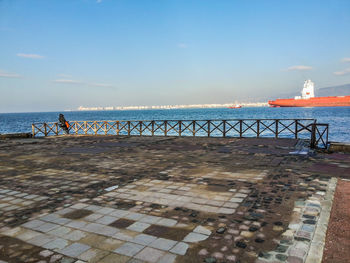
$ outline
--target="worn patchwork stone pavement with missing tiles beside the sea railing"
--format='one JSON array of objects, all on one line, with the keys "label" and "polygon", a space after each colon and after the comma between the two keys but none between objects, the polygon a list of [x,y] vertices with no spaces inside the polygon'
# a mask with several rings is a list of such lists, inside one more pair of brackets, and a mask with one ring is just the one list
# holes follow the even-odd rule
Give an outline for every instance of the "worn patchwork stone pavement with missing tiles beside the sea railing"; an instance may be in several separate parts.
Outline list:
[{"label": "worn patchwork stone pavement with missing tiles beside the sea railing", "polygon": [[313,262],[335,177],[350,175],[350,155],[291,154],[296,145],[2,140],[0,263]]}]

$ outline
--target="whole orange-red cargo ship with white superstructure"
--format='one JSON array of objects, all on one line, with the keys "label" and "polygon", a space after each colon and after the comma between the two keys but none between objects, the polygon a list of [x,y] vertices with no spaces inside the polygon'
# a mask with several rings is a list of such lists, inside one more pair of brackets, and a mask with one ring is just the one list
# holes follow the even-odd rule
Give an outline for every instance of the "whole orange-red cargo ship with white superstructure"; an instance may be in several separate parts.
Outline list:
[{"label": "whole orange-red cargo ship with white superstructure", "polygon": [[350,96],[315,97],[314,83],[306,80],[301,96],[294,99],[269,101],[270,107],[344,107],[350,106]]}]

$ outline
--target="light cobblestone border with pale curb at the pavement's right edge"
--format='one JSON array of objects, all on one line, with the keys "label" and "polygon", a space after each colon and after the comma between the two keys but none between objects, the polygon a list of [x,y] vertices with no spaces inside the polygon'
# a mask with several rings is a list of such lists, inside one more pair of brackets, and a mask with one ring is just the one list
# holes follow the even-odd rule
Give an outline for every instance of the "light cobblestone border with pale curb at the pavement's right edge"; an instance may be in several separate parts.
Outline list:
[{"label": "light cobblestone border with pale curb at the pavement's right edge", "polygon": [[[318,179],[316,179],[318,180]],[[325,191],[317,191],[307,200],[295,201],[292,221],[274,251],[259,254],[256,263],[322,261],[327,226],[337,179],[331,178]]]}]

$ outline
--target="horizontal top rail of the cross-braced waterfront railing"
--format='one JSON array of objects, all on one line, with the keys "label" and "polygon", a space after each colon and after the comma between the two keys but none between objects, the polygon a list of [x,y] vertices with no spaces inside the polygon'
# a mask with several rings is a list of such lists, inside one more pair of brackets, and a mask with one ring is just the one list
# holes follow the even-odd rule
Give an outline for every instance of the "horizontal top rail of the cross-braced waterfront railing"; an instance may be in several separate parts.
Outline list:
[{"label": "horizontal top rail of the cross-braced waterfront railing", "polygon": [[[284,119],[284,118],[279,118],[279,119],[209,119],[209,120],[193,120],[193,119],[188,119],[188,120],[85,120],[85,121],[69,121],[69,122],[150,122],[150,121],[316,121],[316,119],[299,119],[299,118],[294,118],[294,119]],[[55,124],[57,122],[34,122],[33,124]]]}]

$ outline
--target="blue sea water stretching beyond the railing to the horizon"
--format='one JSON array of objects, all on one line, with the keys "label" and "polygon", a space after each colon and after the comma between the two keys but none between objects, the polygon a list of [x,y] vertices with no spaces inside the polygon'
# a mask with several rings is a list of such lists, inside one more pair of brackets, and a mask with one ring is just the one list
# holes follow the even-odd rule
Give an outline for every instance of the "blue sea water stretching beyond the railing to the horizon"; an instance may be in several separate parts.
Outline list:
[{"label": "blue sea water stretching beyond the railing to the horizon", "polygon": [[[59,112],[1,113],[0,134],[31,132],[32,123],[56,122],[58,114]],[[72,111],[63,114],[69,121],[311,118],[330,125],[330,141],[350,142],[350,107]]]}]

